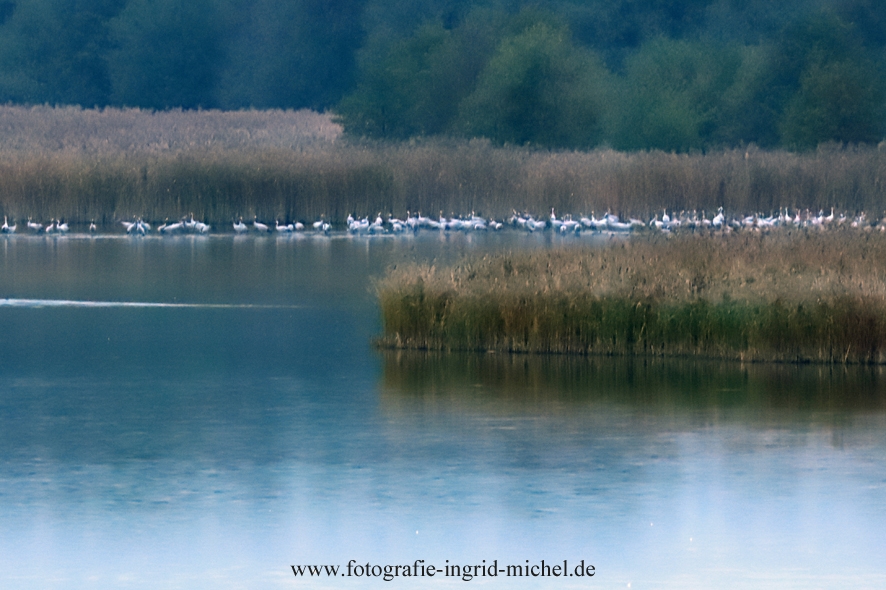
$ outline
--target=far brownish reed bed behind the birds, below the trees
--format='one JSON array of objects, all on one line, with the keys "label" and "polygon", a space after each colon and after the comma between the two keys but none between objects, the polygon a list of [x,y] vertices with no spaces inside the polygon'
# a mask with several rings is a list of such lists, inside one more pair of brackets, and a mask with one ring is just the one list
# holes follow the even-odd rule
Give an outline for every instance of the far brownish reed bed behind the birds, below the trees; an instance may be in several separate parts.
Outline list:
[{"label": "far brownish reed bed behind the birds, below the trees", "polygon": [[718,207],[886,210],[886,145],[809,153],[540,151],[484,140],[368,143],[308,111],[0,107],[0,215],[73,223],[193,213],[333,223],[407,211],[503,219]]}]

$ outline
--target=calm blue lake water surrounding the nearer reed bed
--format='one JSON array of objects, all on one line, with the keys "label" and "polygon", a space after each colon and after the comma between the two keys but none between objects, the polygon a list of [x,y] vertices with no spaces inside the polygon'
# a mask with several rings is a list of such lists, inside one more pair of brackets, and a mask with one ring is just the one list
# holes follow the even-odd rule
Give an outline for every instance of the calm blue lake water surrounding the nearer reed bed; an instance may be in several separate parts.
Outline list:
[{"label": "calm blue lake water surrounding the nearer reed bed", "polygon": [[[550,240],[0,239],[0,587],[886,587],[882,369],[368,345],[387,265]],[[351,559],[597,573],[290,569]]]}]

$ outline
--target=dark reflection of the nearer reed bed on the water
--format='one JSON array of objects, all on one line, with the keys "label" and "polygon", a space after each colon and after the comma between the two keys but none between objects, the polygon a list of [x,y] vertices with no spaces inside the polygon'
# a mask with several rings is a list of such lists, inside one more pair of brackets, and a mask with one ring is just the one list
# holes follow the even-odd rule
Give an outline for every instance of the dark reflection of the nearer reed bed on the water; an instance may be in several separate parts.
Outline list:
[{"label": "dark reflection of the nearer reed bed on the water", "polygon": [[477,395],[513,407],[618,404],[635,411],[716,415],[744,410],[864,412],[886,409],[886,368],[694,359],[383,351],[383,399],[459,407]]}]

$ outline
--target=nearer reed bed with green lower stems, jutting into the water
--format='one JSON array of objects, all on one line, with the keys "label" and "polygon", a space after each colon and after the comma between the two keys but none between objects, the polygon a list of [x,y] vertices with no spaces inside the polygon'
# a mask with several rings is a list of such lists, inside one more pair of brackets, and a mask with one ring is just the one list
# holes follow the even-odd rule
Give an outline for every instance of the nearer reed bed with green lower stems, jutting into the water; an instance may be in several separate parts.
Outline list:
[{"label": "nearer reed bed with green lower stems, jutting into the water", "polygon": [[886,362],[886,236],[646,235],[391,270],[382,347]]}]

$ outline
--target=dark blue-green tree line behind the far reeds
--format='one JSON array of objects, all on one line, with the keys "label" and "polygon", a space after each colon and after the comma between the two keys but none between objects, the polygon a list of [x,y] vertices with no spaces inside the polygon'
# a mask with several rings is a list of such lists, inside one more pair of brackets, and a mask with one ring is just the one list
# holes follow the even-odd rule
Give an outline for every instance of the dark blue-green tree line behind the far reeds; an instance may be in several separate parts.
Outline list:
[{"label": "dark blue-green tree line behind the far reeds", "polygon": [[0,0],[0,102],[313,108],[378,139],[869,143],[872,0]]}]

